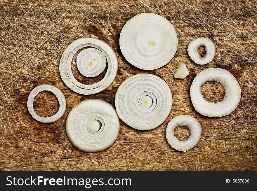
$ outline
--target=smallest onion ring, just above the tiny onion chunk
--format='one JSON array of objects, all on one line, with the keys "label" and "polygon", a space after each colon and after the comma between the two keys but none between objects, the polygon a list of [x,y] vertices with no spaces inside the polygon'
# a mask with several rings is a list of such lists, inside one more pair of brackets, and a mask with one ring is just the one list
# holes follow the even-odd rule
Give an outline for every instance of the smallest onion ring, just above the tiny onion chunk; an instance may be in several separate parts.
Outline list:
[{"label": "smallest onion ring, just above the tiny onion chunk", "polygon": [[[197,49],[200,46],[204,46],[206,50],[206,54],[201,57]],[[190,58],[196,63],[196,64],[208,64],[211,62],[215,55],[215,44],[208,38],[196,38],[192,40],[187,48],[187,53],[190,56]]]}]

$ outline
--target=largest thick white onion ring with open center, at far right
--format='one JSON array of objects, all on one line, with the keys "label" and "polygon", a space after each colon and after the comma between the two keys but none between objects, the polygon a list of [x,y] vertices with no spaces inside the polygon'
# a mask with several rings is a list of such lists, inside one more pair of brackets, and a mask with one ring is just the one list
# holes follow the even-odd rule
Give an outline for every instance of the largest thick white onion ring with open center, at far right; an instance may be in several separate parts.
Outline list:
[{"label": "largest thick white onion ring with open center, at far right", "polygon": [[[204,99],[201,87],[205,82],[218,81],[225,90],[223,99],[212,103]],[[193,80],[190,87],[191,101],[195,110],[209,117],[222,117],[234,111],[241,99],[241,88],[237,79],[227,70],[209,68],[201,71]]]}]

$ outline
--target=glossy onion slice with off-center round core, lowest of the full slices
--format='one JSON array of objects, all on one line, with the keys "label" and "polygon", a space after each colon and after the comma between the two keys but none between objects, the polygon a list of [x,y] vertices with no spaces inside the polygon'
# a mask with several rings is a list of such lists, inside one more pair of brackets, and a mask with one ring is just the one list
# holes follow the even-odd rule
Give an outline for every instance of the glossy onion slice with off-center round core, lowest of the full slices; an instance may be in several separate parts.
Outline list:
[{"label": "glossy onion slice with off-center round core, lowest of the full slices", "polygon": [[114,108],[100,99],[86,99],[74,106],[66,120],[66,133],[72,144],[85,152],[102,151],[119,134],[119,117]]}]

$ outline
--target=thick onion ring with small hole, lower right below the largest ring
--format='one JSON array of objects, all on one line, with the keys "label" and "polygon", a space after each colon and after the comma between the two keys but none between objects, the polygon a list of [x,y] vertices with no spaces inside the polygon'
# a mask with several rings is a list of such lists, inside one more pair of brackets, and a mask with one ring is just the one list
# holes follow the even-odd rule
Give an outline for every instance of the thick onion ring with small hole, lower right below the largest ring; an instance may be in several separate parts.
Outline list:
[{"label": "thick onion ring with small hole, lower right below the largest ring", "polygon": [[[178,126],[187,126],[190,136],[185,141],[180,141],[174,136],[174,130]],[[166,139],[170,146],[176,150],[186,152],[197,145],[201,138],[201,124],[191,115],[178,115],[173,118],[166,128]]]}]

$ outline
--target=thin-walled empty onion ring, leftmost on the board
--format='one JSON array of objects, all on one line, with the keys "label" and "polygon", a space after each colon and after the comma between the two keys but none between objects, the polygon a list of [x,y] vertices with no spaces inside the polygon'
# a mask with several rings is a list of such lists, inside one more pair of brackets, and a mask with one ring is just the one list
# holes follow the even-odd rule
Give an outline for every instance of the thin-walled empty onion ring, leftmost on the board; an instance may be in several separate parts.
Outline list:
[{"label": "thin-walled empty onion ring, leftmost on the board", "polygon": [[[55,96],[57,97],[58,101],[59,101],[59,110],[57,113],[55,113],[53,116],[51,117],[40,117],[38,116],[33,108],[33,102],[34,102],[34,98],[35,96],[42,91],[50,91],[53,94],[55,94]],[[48,84],[42,84],[39,85],[37,87],[35,87],[30,93],[29,93],[29,97],[28,97],[28,101],[27,101],[27,107],[29,110],[29,113],[32,115],[32,117],[42,123],[51,123],[51,122],[55,122],[58,119],[60,119],[63,114],[66,111],[66,99],[64,94],[61,92],[60,89],[58,89],[57,87],[53,86],[53,85],[48,85]]]}]

